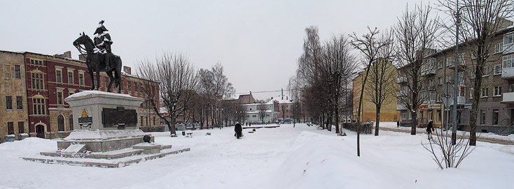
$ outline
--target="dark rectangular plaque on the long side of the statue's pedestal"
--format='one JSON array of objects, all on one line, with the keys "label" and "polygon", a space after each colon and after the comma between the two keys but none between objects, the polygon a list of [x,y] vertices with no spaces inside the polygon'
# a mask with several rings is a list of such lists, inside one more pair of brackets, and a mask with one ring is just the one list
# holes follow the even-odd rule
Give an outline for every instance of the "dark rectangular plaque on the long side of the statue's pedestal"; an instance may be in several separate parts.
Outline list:
[{"label": "dark rectangular plaque on the long side of the statue's pedestal", "polygon": [[102,109],[102,123],[104,128],[118,127],[123,123],[125,127],[136,127],[137,112],[135,109],[125,108],[104,108]]}]

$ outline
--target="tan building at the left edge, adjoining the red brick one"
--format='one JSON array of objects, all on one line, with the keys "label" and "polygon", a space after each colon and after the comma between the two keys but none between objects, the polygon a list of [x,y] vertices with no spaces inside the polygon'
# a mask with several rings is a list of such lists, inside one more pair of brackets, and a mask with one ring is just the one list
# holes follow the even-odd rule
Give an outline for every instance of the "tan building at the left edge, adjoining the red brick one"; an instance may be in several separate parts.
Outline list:
[{"label": "tan building at the left edge, adjoining the red brick one", "polygon": [[0,51],[0,142],[28,133],[25,78],[23,54]]}]

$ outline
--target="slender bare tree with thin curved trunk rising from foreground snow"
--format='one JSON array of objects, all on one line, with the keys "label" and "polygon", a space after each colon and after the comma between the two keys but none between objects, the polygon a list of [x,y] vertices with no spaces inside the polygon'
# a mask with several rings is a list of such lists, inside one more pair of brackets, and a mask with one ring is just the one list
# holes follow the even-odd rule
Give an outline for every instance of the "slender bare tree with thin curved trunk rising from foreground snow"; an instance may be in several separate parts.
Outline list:
[{"label": "slender bare tree with thin curved trunk rising from foreground snow", "polygon": [[366,80],[368,79],[371,65],[380,59],[382,56],[380,53],[385,52],[383,49],[389,47],[392,44],[391,38],[388,38],[387,35],[380,37],[379,30],[377,28],[372,30],[368,27],[368,31],[369,33],[366,33],[361,37],[357,36],[356,33],[350,35],[350,38],[352,38],[352,45],[356,48],[356,50],[359,50],[361,53],[361,61],[366,65],[364,70],[365,73],[363,73],[364,76],[361,83],[361,91],[359,94],[359,109],[357,109],[357,156],[361,156],[359,135],[361,133],[361,107],[364,86],[366,85]]}]

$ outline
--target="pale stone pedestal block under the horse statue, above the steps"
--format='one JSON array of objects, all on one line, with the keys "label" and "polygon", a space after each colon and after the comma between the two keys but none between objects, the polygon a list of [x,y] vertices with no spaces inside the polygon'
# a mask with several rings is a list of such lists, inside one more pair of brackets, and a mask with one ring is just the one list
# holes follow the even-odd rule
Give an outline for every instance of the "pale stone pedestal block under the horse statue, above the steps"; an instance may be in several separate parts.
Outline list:
[{"label": "pale stone pedestal block under the horse statue, above the steps", "polygon": [[[104,91],[82,91],[64,99],[73,110],[74,126],[81,130],[137,128],[137,114],[143,98]],[[85,115],[85,118],[82,118]],[[81,123],[79,123],[81,119]],[[90,120],[90,124],[88,121]]]}]

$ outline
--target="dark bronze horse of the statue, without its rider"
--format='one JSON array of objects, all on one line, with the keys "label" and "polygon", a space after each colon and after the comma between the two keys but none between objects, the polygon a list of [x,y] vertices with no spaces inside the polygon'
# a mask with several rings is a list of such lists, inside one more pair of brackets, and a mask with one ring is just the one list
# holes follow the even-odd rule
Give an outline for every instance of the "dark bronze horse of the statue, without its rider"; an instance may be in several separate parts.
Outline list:
[{"label": "dark bronze horse of the statue, without its rider", "polygon": [[[96,78],[96,87],[97,90],[100,86],[100,72],[107,73],[109,76],[109,86],[106,86],[107,91],[111,92],[111,86],[114,82],[114,88],[118,87],[118,93],[121,93],[121,59],[120,56],[116,56],[112,54],[109,57],[109,61],[113,62],[113,66],[111,68],[106,69],[106,63],[104,63],[103,56],[109,56],[109,54],[101,54],[95,53],[95,45],[89,36],[85,35],[85,33],[81,33],[81,36],[78,37],[73,45],[77,48],[78,52],[83,54],[83,50],[87,55],[85,58],[85,64],[88,66],[88,72],[91,76],[91,89],[95,89],[95,78]],[[84,45],[82,47],[81,45]],[[94,73],[97,72],[96,77]],[[114,73],[114,76],[113,76]]]}]

